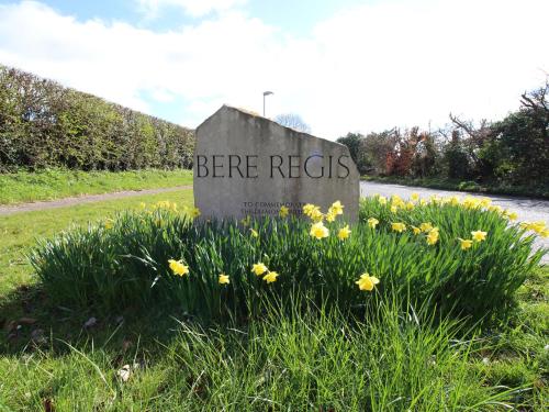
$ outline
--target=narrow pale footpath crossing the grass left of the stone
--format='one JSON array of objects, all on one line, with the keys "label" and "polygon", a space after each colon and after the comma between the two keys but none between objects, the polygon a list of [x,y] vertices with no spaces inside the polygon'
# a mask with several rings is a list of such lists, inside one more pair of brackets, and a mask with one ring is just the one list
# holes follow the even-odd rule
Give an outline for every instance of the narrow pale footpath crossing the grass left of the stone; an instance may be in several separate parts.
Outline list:
[{"label": "narrow pale footpath crossing the grass left of the stone", "polygon": [[164,193],[168,191],[182,190],[182,189],[192,189],[192,186],[177,186],[175,188],[161,188],[161,189],[125,190],[125,191],[117,191],[114,193],[85,194],[85,196],[77,196],[72,198],[64,198],[58,200],[20,203],[13,205],[0,205],[0,216],[2,215],[5,216],[9,214],[20,213],[20,212],[32,212],[35,210],[57,209],[75,204],[100,202],[103,200],[130,198],[134,196]]}]

